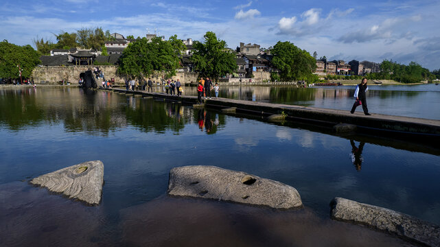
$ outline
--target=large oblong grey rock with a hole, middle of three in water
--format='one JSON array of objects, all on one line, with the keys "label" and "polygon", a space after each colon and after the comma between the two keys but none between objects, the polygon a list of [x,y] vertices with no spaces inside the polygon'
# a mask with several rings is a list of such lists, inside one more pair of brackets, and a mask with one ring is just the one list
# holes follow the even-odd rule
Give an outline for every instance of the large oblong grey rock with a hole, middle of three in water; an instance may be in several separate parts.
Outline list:
[{"label": "large oblong grey rock with a hole, middle of three in water", "polygon": [[209,198],[275,209],[303,206],[298,191],[289,185],[213,166],[171,169],[167,193],[171,196]]}]

